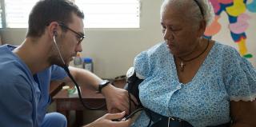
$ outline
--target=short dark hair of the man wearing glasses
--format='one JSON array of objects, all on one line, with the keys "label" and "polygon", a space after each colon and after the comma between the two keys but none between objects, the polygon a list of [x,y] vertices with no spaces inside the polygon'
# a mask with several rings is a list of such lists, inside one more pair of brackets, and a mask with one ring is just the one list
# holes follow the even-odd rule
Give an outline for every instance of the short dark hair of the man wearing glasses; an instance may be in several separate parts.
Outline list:
[{"label": "short dark hair of the man wearing glasses", "polygon": [[84,14],[69,0],[41,0],[36,3],[30,12],[29,28],[26,37],[38,38],[44,34],[44,30],[50,22],[72,21],[72,14],[84,18]]}]

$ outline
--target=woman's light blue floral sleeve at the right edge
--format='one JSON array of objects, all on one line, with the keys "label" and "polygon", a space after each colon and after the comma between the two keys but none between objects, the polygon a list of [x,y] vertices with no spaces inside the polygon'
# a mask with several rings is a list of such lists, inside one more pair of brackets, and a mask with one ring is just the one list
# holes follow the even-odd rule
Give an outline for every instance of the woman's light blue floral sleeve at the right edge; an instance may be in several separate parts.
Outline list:
[{"label": "woman's light blue floral sleeve at the right edge", "polygon": [[254,101],[256,70],[237,50],[230,50],[224,60],[224,81],[230,101]]}]

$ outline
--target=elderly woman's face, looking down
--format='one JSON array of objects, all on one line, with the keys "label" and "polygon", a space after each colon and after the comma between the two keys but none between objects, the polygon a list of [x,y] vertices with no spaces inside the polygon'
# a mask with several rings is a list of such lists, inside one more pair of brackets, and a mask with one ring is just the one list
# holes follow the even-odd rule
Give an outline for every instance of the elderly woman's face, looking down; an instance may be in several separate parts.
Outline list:
[{"label": "elderly woman's face, looking down", "polygon": [[198,46],[199,25],[190,19],[186,19],[184,13],[186,10],[175,9],[166,5],[162,11],[161,25],[163,38],[170,49],[171,54],[177,57],[186,56],[194,51]]}]

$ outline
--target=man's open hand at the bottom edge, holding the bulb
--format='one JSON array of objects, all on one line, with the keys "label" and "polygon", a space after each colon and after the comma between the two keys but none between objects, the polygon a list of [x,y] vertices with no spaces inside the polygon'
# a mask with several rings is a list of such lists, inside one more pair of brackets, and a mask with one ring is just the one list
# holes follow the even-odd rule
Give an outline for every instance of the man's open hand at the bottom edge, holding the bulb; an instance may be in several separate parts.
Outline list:
[{"label": "man's open hand at the bottom edge, holding the bulb", "polygon": [[98,118],[96,121],[86,125],[84,127],[129,127],[131,125],[131,120],[126,121],[112,121],[117,119],[122,119],[125,116],[125,112],[122,113],[106,113],[104,116]]}]

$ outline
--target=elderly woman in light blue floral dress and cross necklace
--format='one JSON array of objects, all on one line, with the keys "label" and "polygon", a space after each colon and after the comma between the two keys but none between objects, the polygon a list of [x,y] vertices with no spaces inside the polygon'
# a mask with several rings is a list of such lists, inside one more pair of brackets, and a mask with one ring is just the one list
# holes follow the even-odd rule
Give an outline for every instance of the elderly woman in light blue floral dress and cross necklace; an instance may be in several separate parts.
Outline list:
[{"label": "elderly woman in light blue floral dress and cross necklace", "polygon": [[202,38],[213,17],[208,0],[162,3],[165,42],[134,60],[144,79],[139,98],[150,113],[133,126],[145,127],[149,117],[158,127],[256,126],[256,71],[237,50]]}]

